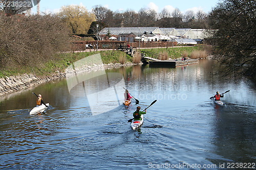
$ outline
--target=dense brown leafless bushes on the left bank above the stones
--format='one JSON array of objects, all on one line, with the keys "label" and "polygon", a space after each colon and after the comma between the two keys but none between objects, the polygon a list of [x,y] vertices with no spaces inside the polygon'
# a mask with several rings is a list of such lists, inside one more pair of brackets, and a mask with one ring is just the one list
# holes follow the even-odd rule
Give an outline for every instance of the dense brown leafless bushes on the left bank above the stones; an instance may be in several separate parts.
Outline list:
[{"label": "dense brown leafless bushes on the left bank above the stones", "polygon": [[69,35],[54,15],[0,15],[0,68],[37,66],[68,51]]}]

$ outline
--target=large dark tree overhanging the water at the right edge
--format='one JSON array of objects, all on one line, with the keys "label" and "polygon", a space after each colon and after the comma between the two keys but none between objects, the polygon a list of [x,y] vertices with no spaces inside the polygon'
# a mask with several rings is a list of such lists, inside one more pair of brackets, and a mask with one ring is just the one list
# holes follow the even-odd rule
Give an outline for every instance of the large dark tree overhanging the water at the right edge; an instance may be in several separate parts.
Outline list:
[{"label": "large dark tree overhanging the water at the right edge", "polygon": [[256,2],[224,0],[209,15],[216,29],[210,43],[214,59],[225,64],[224,75],[246,75],[256,81]]}]

